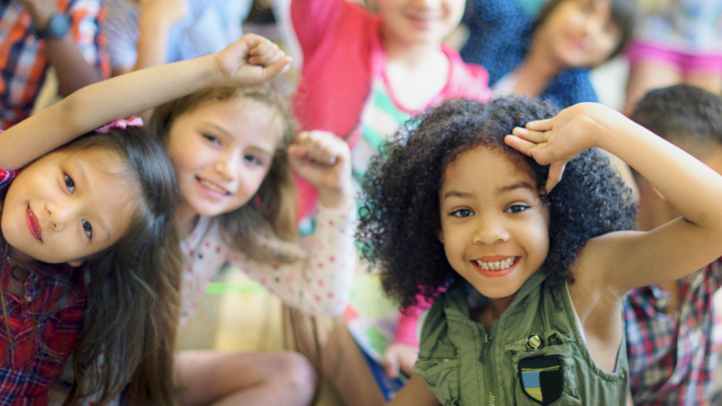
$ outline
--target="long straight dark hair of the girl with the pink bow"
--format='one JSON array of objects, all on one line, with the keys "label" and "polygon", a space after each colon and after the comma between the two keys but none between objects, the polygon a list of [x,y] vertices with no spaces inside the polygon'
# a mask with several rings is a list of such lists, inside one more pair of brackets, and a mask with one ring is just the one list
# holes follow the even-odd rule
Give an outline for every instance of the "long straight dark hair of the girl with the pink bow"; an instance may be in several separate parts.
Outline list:
[{"label": "long straight dark hair of the girl with the pink bow", "polygon": [[[169,232],[176,198],[171,162],[139,127],[88,134],[60,150],[119,154],[125,167],[118,175],[134,185],[131,199],[136,205],[128,232],[73,271],[75,281],[86,280],[87,305],[72,353],[74,380],[64,404],[78,404],[83,397],[97,394],[96,404],[101,406],[124,391],[132,404],[175,404],[172,369],[180,313],[181,255],[177,239]],[[5,272],[5,258],[10,260],[13,275],[31,272],[47,277],[58,272],[57,265],[18,253],[2,235],[0,244],[4,254],[0,272]],[[68,307],[78,289],[81,287],[73,286],[63,292],[53,308],[38,318],[38,324]],[[2,308],[8,332],[4,301]],[[33,331],[38,334],[37,324]],[[8,344],[8,348],[13,345]],[[101,360],[105,367],[99,368]]]}]

